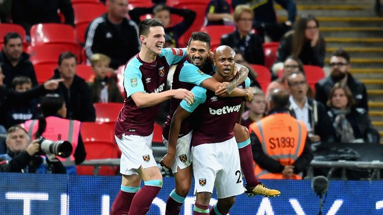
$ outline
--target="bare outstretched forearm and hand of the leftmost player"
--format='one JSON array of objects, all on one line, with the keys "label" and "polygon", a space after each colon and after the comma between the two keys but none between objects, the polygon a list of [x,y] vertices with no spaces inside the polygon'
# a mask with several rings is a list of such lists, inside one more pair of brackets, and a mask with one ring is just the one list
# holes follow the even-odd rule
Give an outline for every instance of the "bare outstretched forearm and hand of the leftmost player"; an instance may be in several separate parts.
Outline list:
[{"label": "bare outstretched forearm and hand of the leftmost player", "polygon": [[138,108],[155,106],[170,98],[185,100],[189,104],[192,104],[194,101],[192,92],[186,89],[168,90],[161,93],[150,94],[144,92],[136,92],[132,94],[131,97]]}]

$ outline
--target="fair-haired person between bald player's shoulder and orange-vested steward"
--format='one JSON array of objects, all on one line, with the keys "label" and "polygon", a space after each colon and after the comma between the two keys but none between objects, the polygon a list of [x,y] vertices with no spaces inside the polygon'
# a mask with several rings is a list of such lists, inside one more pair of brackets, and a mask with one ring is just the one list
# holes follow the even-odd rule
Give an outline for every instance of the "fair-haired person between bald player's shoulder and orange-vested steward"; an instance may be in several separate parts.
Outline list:
[{"label": "fair-haired person between bald player's shoulder and orange-vested steward", "polygon": [[241,125],[249,128],[249,125],[253,122],[259,121],[265,116],[266,111],[266,100],[265,94],[262,90],[253,87],[253,99],[250,102],[246,102],[246,110],[242,113]]}]

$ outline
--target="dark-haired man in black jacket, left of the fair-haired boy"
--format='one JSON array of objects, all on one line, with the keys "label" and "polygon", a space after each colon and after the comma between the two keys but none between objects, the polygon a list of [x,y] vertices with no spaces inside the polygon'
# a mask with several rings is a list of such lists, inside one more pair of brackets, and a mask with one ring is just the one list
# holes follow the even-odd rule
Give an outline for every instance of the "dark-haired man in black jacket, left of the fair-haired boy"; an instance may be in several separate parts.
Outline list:
[{"label": "dark-haired man in black jacket, left of the fair-haired boy", "polygon": [[79,121],[95,121],[96,113],[93,107],[89,86],[84,79],[76,75],[77,57],[71,52],[63,52],[58,58],[58,68],[54,71],[54,79],[61,78],[56,92],[66,104],[67,119]]}]

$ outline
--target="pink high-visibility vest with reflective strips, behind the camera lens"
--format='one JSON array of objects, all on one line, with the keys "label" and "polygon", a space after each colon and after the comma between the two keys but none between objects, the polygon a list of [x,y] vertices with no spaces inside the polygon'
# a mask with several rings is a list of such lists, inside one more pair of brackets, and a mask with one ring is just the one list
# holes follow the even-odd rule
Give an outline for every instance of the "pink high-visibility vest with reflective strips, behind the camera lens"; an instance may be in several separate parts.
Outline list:
[{"label": "pink high-visibility vest with reflective strips, behind the camera lens", "polygon": [[[75,166],[74,152],[76,151],[78,136],[80,134],[81,122],[77,120],[69,120],[56,116],[48,116],[45,118],[46,128],[42,133],[42,136],[47,140],[67,140],[72,144],[72,154],[68,158],[56,157],[59,159],[65,167]],[[34,137],[34,134],[38,128],[38,120],[27,120],[24,122],[24,128],[28,131],[30,137]]]}]

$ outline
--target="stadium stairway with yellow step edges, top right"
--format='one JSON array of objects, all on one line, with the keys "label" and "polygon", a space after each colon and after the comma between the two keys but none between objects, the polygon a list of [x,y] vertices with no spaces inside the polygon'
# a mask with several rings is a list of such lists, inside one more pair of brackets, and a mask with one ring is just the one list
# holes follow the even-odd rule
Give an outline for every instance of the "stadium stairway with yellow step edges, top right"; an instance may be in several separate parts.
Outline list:
[{"label": "stadium stairway with yellow step edges, top right", "polygon": [[[383,144],[383,17],[375,0],[295,0],[298,15],[313,14],[326,40],[326,60],[338,48],[349,52],[350,73],[367,87],[370,117]],[[275,5],[280,21],[287,13]],[[325,68],[326,70],[326,68]]]}]

